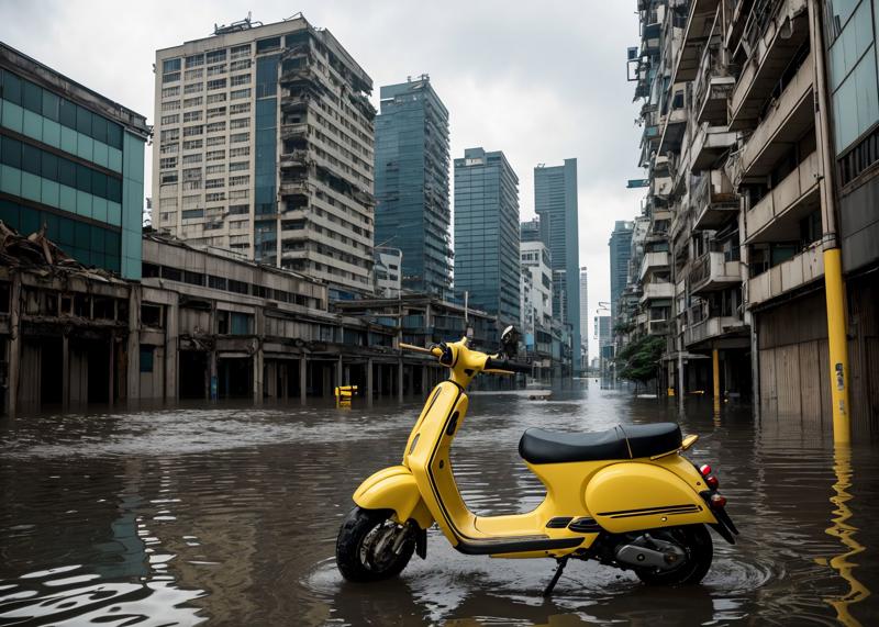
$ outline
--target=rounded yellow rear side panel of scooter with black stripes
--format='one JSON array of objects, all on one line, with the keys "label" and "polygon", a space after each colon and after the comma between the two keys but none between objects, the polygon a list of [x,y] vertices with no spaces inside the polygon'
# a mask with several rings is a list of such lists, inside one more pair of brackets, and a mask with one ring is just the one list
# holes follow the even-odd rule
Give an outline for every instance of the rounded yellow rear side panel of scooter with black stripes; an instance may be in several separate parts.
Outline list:
[{"label": "rounded yellow rear side panel of scooter with black stripes", "polygon": [[683,479],[652,463],[614,463],[598,471],[586,488],[586,504],[612,534],[717,522]]}]

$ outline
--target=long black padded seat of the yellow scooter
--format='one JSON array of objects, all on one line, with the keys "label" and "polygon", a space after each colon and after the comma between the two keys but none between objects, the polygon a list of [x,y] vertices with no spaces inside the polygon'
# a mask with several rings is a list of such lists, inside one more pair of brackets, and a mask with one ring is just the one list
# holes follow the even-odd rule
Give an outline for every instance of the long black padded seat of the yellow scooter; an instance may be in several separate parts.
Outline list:
[{"label": "long black padded seat of the yellow scooter", "polygon": [[531,428],[519,440],[519,455],[531,463],[635,459],[679,448],[676,423],[617,425],[607,432],[571,434]]}]

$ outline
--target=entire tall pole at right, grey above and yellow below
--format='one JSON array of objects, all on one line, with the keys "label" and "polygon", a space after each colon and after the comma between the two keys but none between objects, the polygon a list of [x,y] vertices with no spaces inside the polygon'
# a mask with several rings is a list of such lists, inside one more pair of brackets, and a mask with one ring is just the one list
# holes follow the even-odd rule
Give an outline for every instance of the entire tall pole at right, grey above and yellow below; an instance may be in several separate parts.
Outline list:
[{"label": "entire tall pole at right, grey above and yellow below", "polygon": [[[833,439],[850,441],[852,426],[848,403],[848,344],[846,340],[845,283],[842,254],[836,235],[835,163],[831,146],[830,98],[824,76],[824,42],[821,9],[817,0],[809,0],[809,30],[812,40],[815,72],[815,139],[821,154],[821,225],[824,250],[824,294],[827,304],[827,346],[830,348],[831,398],[833,399]],[[843,114],[843,112],[837,112]]]}]

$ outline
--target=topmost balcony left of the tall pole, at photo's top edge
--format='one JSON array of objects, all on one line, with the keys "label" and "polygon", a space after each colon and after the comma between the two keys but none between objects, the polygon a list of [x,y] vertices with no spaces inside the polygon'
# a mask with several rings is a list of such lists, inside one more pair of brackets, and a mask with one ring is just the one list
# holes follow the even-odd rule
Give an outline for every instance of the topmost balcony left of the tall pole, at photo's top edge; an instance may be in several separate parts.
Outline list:
[{"label": "topmost balcony left of the tall pole, at photo's top edge", "polygon": [[[756,2],[736,44],[747,54],[730,100],[730,127],[753,126],[785,70],[809,38],[806,0]],[[771,15],[767,12],[775,11]]]}]

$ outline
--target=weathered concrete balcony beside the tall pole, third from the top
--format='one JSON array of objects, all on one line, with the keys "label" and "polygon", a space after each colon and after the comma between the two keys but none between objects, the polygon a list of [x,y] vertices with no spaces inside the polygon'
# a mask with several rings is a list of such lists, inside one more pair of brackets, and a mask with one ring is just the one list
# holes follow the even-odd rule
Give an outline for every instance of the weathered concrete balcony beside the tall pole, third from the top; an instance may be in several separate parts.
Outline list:
[{"label": "weathered concrete balcony beside the tall pole, third from the top", "polygon": [[745,244],[797,239],[802,217],[821,203],[817,152],[809,155],[745,214]]}]

